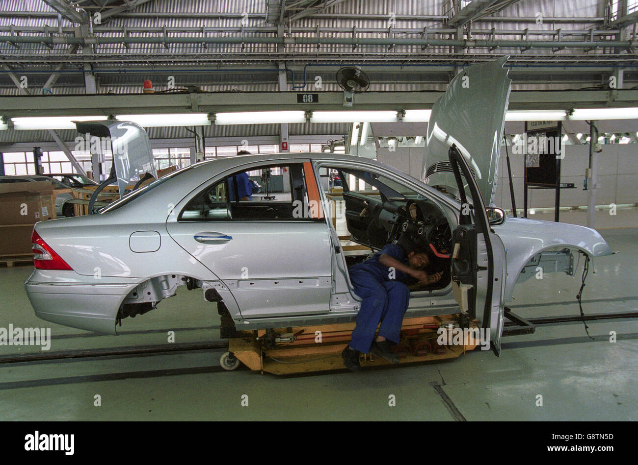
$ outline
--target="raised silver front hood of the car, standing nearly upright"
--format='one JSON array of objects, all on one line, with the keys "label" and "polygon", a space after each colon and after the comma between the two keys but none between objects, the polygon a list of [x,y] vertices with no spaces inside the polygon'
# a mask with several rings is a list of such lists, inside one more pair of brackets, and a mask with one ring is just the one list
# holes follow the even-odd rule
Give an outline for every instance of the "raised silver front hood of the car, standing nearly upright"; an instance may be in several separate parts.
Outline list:
[{"label": "raised silver front hood of the car, standing nearly upright", "polygon": [[486,205],[492,205],[498,157],[510,96],[508,57],[475,64],[455,76],[432,107],[421,179],[432,187],[458,192],[448,150],[456,144],[473,171]]}]

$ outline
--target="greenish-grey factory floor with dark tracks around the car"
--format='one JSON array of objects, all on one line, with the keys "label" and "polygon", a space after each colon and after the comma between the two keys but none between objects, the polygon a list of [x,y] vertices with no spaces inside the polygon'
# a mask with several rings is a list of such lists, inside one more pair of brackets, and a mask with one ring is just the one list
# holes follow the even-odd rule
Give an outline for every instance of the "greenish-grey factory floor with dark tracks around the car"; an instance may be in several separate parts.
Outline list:
[{"label": "greenish-grey factory floor with dark tracks around the car", "polygon": [[[614,226],[610,220],[600,228],[618,254],[595,260],[595,274],[590,267],[586,315],[637,310],[638,227],[626,225],[635,226],[638,213],[621,215],[625,227],[605,229]],[[34,316],[24,292],[29,273],[0,269],[0,326],[50,326],[48,354],[164,344],[168,331],[175,343],[219,340],[214,304],[185,287],[157,310],[124,320],[121,336],[48,324]],[[582,260],[574,277],[517,285],[510,306],[525,318],[579,315],[581,273]],[[542,325],[504,338],[500,357],[476,350],[438,364],[293,378],[219,371],[221,349],[0,364],[0,420],[638,420],[638,320],[588,326],[593,341],[582,322]],[[45,353],[0,346],[0,357],[36,352]]]}]

